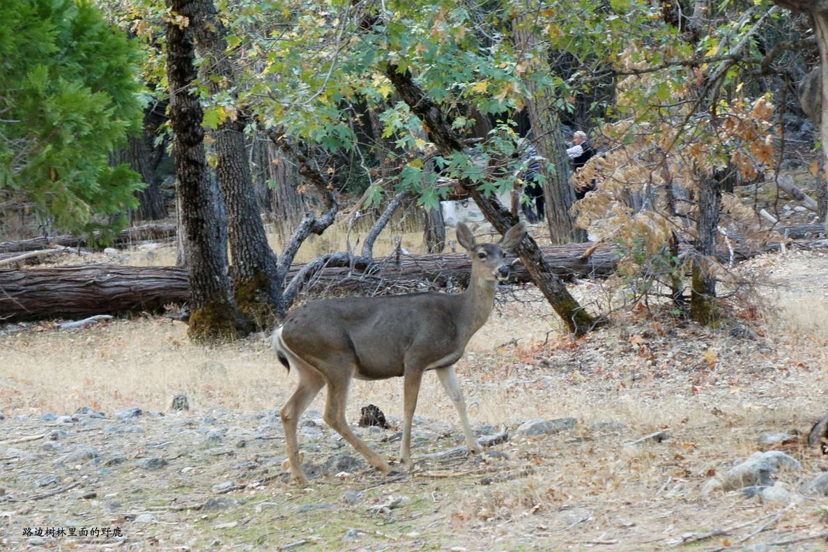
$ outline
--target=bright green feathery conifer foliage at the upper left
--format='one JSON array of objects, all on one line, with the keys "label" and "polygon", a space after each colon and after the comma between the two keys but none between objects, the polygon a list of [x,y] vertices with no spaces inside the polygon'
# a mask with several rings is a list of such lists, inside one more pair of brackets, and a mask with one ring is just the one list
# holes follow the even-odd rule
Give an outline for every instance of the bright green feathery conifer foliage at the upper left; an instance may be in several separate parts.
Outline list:
[{"label": "bright green feathery conifer foliage at the upper left", "polygon": [[72,233],[135,207],[138,175],[108,154],[142,120],[137,62],[89,0],[3,0],[0,199]]}]

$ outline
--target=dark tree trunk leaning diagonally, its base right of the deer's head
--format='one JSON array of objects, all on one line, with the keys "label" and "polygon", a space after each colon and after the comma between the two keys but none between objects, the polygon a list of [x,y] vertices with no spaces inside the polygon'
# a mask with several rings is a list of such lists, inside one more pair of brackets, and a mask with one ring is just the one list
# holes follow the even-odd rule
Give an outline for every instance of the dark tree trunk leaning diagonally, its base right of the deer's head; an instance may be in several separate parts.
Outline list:
[{"label": "dark tree trunk leaning diagonally, its base right of the deer's head", "polygon": [[[443,117],[436,103],[432,102],[431,98],[428,98],[420,86],[414,82],[408,70],[400,71],[397,65],[388,64],[385,74],[397,89],[402,100],[424,123],[431,142],[434,142],[441,153],[448,155],[454,151],[463,151],[463,144],[451,128],[450,122]],[[508,228],[517,223],[517,218],[500,208],[496,200],[485,197],[474,184],[465,182],[461,185],[469,192],[480,211],[499,233],[505,233]],[[566,290],[566,286],[549,269],[549,266],[546,266],[541,251],[531,236],[527,236],[517,247],[517,254],[532,274],[535,284],[542,290],[546,300],[563,319],[570,332],[580,336],[595,328],[595,319],[578,304]]]}]

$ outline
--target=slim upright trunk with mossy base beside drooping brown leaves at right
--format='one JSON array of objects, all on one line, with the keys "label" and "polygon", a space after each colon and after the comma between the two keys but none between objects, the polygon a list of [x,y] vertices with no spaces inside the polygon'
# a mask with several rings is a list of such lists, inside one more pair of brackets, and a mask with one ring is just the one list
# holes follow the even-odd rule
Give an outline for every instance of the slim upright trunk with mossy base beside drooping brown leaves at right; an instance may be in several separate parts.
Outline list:
[{"label": "slim upright trunk with mossy base beside drooping brown leaves at right", "polygon": [[693,258],[693,276],[690,295],[690,314],[699,324],[710,325],[718,318],[716,307],[716,276],[712,271],[719,234],[721,213],[721,175],[717,171],[702,180],[699,190],[699,218],[696,230],[696,255]]}]

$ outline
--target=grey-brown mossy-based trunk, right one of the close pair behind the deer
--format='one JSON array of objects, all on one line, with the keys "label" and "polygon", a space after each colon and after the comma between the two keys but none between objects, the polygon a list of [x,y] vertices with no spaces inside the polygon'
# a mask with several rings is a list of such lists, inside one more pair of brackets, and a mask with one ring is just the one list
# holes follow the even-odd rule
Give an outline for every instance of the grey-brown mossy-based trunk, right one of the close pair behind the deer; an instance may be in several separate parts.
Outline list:
[{"label": "grey-brown mossy-based trunk, right one of the close pair behind the deer", "polygon": [[[192,2],[198,8],[190,17],[190,27],[198,39],[200,54],[208,60],[202,65],[204,81],[212,94],[233,89],[233,65],[227,55],[224,24],[213,0]],[[231,91],[231,97],[236,98]],[[267,235],[253,190],[248,153],[245,147],[242,116],[228,117],[212,132],[218,159],[216,173],[228,214],[228,238],[233,256],[233,297],[238,309],[259,329],[284,318],[280,312],[282,286],[278,278],[276,254]]]}]

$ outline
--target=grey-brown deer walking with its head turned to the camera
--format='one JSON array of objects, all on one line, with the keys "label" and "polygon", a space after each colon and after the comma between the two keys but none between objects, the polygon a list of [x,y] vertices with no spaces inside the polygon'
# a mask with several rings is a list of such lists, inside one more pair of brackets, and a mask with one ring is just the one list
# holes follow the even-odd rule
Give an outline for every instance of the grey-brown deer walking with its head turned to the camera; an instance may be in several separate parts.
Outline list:
[{"label": "grey-brown deer walking with its head turned to the camera", "polygon": [[291,311],[272,336],[277,358],[287,371],[298,372],[299,385],[280,410],[285,431],[291,482],[307,485],[301,467],[296,426],[302,412],[328,386],[325,423],[340,434],[368,464],[383,474],[392,468],[350,429],[345,403],[353,378],[403,378],[403,425],[400,464],[411,469],[412,418],[425,372],[434,371],[460,415],[470,453],[483,448],[469,426],[455,362],[469,339],[489,319],[498,282],[508,279],[505,251],[522,242],[526,223],[509,228],[497,243],[479,243],[464,224],[457,241],[471,257],[469,286],[462,293],[438,292],[349,297],[310,302]]}]

